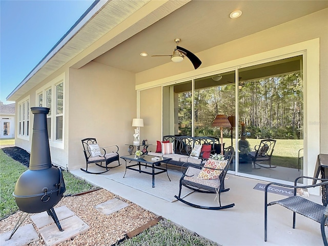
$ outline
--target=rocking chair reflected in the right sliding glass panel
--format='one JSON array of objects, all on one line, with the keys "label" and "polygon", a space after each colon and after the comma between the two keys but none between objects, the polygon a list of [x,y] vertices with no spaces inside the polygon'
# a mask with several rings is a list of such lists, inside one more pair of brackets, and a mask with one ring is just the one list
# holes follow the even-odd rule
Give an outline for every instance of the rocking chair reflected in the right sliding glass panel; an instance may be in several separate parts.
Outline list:
[{"label": "rocking chair reflected in the right sliding glass panel", "polygon": [[[259,168],[256,168],[256,165],[259,167],[262,167],[262,168],[276,168],[276,166],[273,166],[273,167],[271,166],[271,156],[274,151],[275,144],[276,144],[276,140],[274,140],[274,139],[263,139],[263,140],[261,140],[259,145],[256,145],[254,147],[255,151],[251,151],[249,153],[249,156],[254,165],[254,169],[259,169]],[[268,149],[266,151],[263,151],[263,150],[265,150],[265,149],[263,149],[263,148],[265,148],[265,146],[267,146]],[[252,155],[251,153],[254,153],[254,155]],[[257,162],[261,162],[261,163],[267,162],[267,163],[269,163],[269,167],[264,167]]]}]

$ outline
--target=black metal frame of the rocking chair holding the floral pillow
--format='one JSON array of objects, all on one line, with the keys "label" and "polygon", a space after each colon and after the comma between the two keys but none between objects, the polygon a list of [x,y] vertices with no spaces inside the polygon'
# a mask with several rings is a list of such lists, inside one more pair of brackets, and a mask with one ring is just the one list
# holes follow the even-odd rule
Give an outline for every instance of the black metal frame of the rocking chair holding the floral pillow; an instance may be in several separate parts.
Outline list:
[{"label": "black metal frame of the rocking chair holding the floral pillow", "polygon": [[[200,183],[196,183],[196,182],[192,182],[192,181],[189,181],[189,180],[185,180],[184,178],[187,176],[186,173],[188,173],[188,170],[190,168],[196,168],[196,166],[190,166],[188,167],[188,169],[183,172],[182,174],[182,177],[180,178],[180,183],[179,183],[179,186],[180,186],[180,189],[179,189],[179,195],[176,196],[175,195],[175,198],[178,199],[179,201],[189,205],[189,206],[192,206],[192,207],[195,207],[195,208],[199,208],[199,209],[209,209],[209,210],[220,210],[220,209],[228,209],[228,208],[232,208],[235,206],[235,203],[231,203],[231,204],[228,204],[226,206],[222,206],[221,205],[221,193],[222,192],[226,192],[226,191],[229,191],[230,189],[225,189],[224,188],[224,177],[226,177],[226,174],[228,172],[228,169],[230,167],[230,163],[232,162],[232,159],[234,157],[234,153],[235,153],[235,150],[233,147],[229,147],[226,149],[226,153],[225,153],[225,158],[224,159],[227,159],[228,160],[228,163],[226,165],[226,167],[222,170],[219,178],[218,178],[218,181],[220,183],[219,185],[219,188],[218,189],[215,189],[213,187],[209,187],[209,186],[204,186]],[[199,172],[201,171],[201,166],[198,166],[197,167],[199,169]],[[212,168],[210,168],[212,169]],[[220,169],[213,169],[213,170],[220,170]],[[193,175],[192,175],[193,176]],[[198,204],[194,204],[194,203],[191,203],[189,201],[186,201],[185,199],[181,198],[181,189],[182,189],[182,186],[184,187],[187,187],[188,189],[191,189],[193,191],[196,191],[196,192],[202,192],[202,193],[216,193],[217,196],[218,196],[218,202],[219,202],[219,206],[217,207],[207,207],[207,206],[201,206],[201,205],[198,205]]]}]

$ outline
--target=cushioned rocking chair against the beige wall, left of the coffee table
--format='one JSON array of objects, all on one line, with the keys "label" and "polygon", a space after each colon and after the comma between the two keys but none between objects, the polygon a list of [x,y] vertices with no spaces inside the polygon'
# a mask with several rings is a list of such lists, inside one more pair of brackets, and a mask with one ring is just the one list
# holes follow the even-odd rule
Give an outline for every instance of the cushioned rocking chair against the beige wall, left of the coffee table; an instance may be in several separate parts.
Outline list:
[{"label": "cushioned rocking chair against the beige wall, left of the coffee table", "polygon": [[[83,152],[86,158],[86,163],[87,167],[86,169],[80,169],[81,171],[84,171],[86,173],[91,173],[91,174],[101,174],[101,173],[106,173],[109,171],[108,165],[109,163],[112,163],[113,161],[118,161],[118,165],[111,167],[111,168],[116,168],[120,166],[119,163],[119,154],[118,154],[118,146],[113,145],[113,146],[108,146],[108,147],[99,147],[97,144],[97,140],[95,138],[89,137],[81,140],[82,145],[83,145]],[[105,148],[111,148],[112,152],[106,153]],[[100,162],[100,164],[99,164]],[[103,162],[106,163],[105,166],[103,166]],[[101,168],[106,168],[106,171],[104,172],[90,172],[88,171],[88,165],[91,163],[95,163],[97,166]]]}]

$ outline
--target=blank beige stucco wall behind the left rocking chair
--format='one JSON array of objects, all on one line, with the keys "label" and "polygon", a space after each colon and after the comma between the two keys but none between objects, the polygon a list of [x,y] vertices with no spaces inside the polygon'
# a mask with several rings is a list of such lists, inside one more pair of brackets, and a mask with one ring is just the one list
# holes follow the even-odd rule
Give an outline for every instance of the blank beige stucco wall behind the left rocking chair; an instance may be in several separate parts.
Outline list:
[{"label": "blank beige stucco wall behind the left rocking chair", "polygon": [[99,146],[119,146],[127,155],[136,117],[135,74],[91,61],[69,70],[68,168],[85,168],[81,139],[95,137]]}]

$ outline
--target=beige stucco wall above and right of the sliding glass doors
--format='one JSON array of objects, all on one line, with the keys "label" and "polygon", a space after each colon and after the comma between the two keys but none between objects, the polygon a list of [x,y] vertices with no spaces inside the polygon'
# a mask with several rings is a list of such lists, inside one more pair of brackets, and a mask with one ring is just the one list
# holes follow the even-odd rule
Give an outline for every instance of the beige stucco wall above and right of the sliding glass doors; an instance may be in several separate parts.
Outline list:
[{"label": "beige stucco wall above and right of the sliding glass doors", "polygon": [[[223,64],[228,61],[320,38],[320,95],[318,95],[320,96],[320,153],[328,153],[328,141],[326,141],[328,138],[328,98],[326,97],[328,91],[327,23],[328,9],[324,9],[233,42],[199,52],[197,56],[202,60],[202,65],[197,70],[191,71],[192,66],[187,60],[179,64],[168,63],[137,73],[136,87],[142,87],[142,84],[145,83],[148,83],[147,86],[158,86],[161,80],[163,80],[163,83],[168,83],[168,80],[165,80],[167,77],[172,77],[172,79],[178,81],[183,78],[180,76],[182,73],[188,73],[190,77],[201,76],[210,71],[208,69],[210,66],[217,65],[216,69],[227,69]],[[311,84],[311,81],[308,81],[308,83]],[[158,97],[161,96],[159,90],[156,93],[158,93]],[[156,110],[157,112],[161,110],[160,104],[157,105]]]}]

